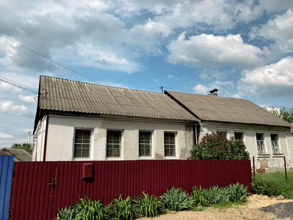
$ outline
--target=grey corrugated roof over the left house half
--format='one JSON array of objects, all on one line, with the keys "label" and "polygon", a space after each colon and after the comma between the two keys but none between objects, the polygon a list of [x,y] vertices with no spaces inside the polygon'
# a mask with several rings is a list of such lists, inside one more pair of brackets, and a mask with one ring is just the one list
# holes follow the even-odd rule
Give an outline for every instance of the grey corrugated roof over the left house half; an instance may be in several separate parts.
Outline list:
[{"label": "grey corrugated roof over the left house half", "polygon": [[160,119],[197,121],[167,95],[157,92],[106,87],[41,76],[40,99],[44,110],[75,111]]}]

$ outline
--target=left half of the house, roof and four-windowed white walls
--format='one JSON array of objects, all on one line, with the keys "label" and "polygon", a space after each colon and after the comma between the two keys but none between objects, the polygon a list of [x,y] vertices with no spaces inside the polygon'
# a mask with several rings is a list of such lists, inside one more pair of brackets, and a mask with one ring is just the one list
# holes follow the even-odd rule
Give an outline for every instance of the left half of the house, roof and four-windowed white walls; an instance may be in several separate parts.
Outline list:
[{"label": "left half of the house, roof and four-windowed white walls", "polygon": [[41,76],[33,161],[186,159],[198,123],[164,93]]}]

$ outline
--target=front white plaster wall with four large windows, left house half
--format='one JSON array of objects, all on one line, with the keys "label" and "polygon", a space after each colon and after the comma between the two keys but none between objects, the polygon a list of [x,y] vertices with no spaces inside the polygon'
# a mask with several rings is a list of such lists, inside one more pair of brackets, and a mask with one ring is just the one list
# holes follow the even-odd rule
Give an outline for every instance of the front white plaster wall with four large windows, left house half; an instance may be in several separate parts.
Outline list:
[{"label": "front white plaster wall with four large windows, left house half", "polygon": [[[189,150],[193,144],[190,125],[50,115],[48,122],[46,161],[73,159],[75,128],[92,130],[90,160],[106,159],[107,130],[122,131],[121,159],[123,160],[139,159],[139,131],[153,132],[153,159],[164,159],[164,132],[176,132],[177,159],[186,159],[189,156]],[[39,160],[39,158],[37,158],[37,160]]]}]

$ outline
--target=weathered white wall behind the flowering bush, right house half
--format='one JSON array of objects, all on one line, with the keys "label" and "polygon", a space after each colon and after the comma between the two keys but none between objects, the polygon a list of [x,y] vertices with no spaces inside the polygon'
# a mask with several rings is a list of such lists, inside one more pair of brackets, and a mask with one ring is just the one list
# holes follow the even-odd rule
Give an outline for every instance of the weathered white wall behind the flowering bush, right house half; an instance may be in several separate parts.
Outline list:
[{"label": "weathered white wall behind the flowering bush, right house half", "polygon": [[[244,143],[247,147],[247,151],[251,156],[255,157],[255,166],[257,169],[260,168],[261,163],[267,163],[268,168],[282,168],[284,167],[283,156],[286,157],[287,167],[293,167],[293,143],[290,135],[290,128],[277,127],[277,126],[262,126],[262,125],[248,125],[248,124],[236,124],[236,123],[219,123],[219,122],[202,122],[200,129],[199,140],[207,132],[215,131],[227,132],[228,138],[234,135],[234,132],[244,133]],[[256,133],[264,133],[265,149],[266,154],[261,155],[257,152]],[[278,134],[279,146],[281,154],[272,153],[271,145],[271,133]],[[263,164],[262,164],[263,165]]]}]

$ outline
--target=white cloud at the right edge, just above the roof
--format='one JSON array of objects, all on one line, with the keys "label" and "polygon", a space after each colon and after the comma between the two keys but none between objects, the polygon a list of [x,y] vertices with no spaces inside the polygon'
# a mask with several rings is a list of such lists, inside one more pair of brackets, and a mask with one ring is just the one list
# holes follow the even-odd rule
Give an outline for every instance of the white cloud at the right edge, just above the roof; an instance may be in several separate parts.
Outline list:
[{"label": "white cloud at the right edge, just above the roof", "polygon": [[248,95],[284,97],[293,94],[293,58],[286,57],[275,64],[244,71],[237,89]]}]

